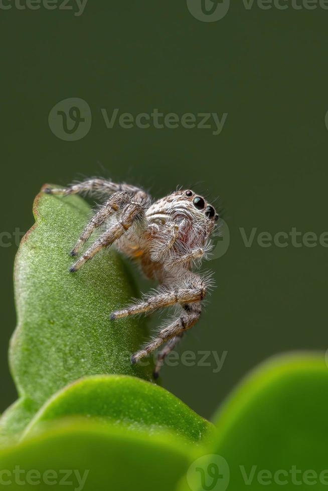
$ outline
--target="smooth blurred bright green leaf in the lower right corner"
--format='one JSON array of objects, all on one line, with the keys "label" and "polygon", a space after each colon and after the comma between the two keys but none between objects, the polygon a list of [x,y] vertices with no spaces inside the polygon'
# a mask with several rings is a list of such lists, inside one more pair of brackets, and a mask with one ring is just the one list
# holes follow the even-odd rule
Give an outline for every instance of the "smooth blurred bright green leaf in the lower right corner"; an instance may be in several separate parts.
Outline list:
[{"label": "smooth blurred bright green leaf in the lower right corner", "polygon": [[266,362],[220,409],[215,443],[199,455],[179,491],[327,489],[327,410],[323,353]]}]

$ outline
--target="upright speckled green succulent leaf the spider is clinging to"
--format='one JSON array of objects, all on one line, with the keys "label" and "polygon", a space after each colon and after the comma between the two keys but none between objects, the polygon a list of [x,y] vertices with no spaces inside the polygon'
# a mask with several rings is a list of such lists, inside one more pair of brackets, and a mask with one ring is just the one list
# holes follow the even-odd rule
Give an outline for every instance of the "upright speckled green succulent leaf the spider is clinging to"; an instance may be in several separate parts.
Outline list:
[{"label": "upright speckled green succulent leaf the spider is clinging to", "polygon": [[131,366],[130,355],[147,337],[142,319],[115,323],[109,314],[136,295],[114,250],[98,254],[70,274],[74,246],[91,210],[78,196],[40,193],[36,223],[22,240],[15,264],[18,326],[10,365],[19,400],[0,420],[13,437],[61,388],[80,377],[126,374],[151,380],[152,367]]}]

